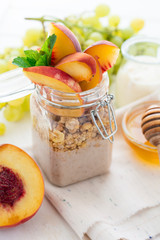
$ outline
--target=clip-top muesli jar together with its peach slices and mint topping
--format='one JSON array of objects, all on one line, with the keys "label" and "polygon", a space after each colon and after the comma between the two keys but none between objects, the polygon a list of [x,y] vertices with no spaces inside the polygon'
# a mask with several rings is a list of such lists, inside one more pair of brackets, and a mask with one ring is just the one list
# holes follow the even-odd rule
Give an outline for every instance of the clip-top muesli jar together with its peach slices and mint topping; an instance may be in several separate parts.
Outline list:
[{"label": "clip-top muesli jar together with its peach slices and mint topping", "polygon": [[116,123],[106,72],[119,49],[99,41],[84,52],[64,25],[51,23],[41,49],[13,63],[36,86],[31,97],[33,151],[48,179],[66,186],[108,171]]}]

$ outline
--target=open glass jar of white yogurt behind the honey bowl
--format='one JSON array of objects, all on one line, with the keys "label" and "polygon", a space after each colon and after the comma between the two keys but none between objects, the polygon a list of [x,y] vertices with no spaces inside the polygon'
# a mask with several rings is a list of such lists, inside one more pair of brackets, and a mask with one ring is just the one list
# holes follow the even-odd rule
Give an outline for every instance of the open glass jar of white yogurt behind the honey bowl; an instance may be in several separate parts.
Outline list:
[{"label": "open glass jar of white yogurt behind the honey bowl", "polygon": [[160,88],[160,39],[133,37],[122,44],[124,64],[116,76],[116,105],[122,107]]}]

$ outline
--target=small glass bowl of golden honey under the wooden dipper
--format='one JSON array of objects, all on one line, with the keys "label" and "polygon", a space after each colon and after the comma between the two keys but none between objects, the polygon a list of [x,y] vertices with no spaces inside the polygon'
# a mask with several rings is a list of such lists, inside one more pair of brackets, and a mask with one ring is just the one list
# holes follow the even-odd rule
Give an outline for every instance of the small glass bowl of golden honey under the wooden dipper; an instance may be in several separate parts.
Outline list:
[{"label": "small glass bowl of golden honey under the wooden dipper", "polygon": [[158,151],[144,137],[141,129],[141,119],[144,111],[151,105],[160,105],[160,101],[148,101],[130,108],[123,117],[122,129],[128,144],[136,151],[141,160],[159,164]]}]

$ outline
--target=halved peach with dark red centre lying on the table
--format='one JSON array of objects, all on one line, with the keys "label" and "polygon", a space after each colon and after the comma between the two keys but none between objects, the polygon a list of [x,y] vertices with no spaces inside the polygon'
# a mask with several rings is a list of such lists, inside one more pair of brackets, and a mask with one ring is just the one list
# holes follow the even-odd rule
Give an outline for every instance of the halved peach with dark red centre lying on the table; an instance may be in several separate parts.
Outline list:
[{"label": "halved peach with dark red centre lying on the table", "polygon": [[0,227],[29,220],[41,206],[44,182],[34,160],[20,148],[0,146]]}]

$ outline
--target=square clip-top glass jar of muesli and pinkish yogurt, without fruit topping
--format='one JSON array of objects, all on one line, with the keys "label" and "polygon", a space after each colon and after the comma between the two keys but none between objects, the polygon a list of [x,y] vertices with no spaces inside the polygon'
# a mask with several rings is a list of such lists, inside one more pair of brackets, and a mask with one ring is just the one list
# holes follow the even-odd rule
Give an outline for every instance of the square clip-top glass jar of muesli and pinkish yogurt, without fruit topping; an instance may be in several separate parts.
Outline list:
[{"label": "square clip-top glass jar of muesli and pinkish yogurt, without fruit topping", "polygon": [[51,183],[66,186],[108,171],[116,123],[108,75],[81,93],[36,87],[31,97],[33,151]]}]

